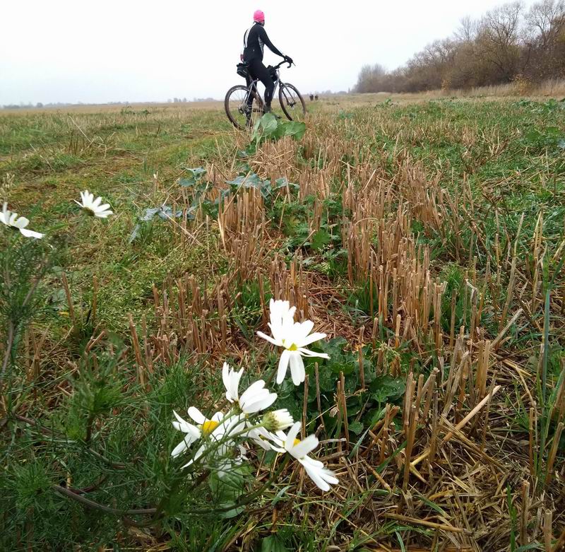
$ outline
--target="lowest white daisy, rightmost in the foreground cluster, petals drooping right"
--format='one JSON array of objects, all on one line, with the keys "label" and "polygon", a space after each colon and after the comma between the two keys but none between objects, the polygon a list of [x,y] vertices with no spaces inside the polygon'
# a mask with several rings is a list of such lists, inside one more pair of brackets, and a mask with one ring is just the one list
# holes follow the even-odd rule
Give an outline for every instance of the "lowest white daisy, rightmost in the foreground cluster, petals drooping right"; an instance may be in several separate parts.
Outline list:
[{"label": "lowest white daisy, rightmost in the foreground cluster, petals drooping right", "polygon": [[316,435],[309,435],[304,440],[297,439],[300,430],[300,422],[292,425],[292,428],[285,435],[282,431],[277,433],[279,447],[273,446],[273,450],[277,452],[287,452],[293,458],[297,459],[312,481],[322,491],[330,490],[330,483],[336,485],[339,483],[338,478],[335,477],[333,471],[325,468],[319,460],[310,458],[309,452],[312,452],[318,446],[318,438]]}]

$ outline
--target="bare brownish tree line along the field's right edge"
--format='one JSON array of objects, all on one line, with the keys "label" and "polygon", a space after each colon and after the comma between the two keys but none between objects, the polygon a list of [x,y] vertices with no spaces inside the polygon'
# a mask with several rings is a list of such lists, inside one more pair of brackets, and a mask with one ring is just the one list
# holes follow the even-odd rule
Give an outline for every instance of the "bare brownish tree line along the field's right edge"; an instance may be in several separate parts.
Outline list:
[{"label": "bare brownish tree line along the field's right edge", "polygon": [[451,37],[436,40],[405,66],[362,67],[355,92],[419,92],[565,78],[565,0],[528,10],[513,1],[479,19],[463,18]]}]

